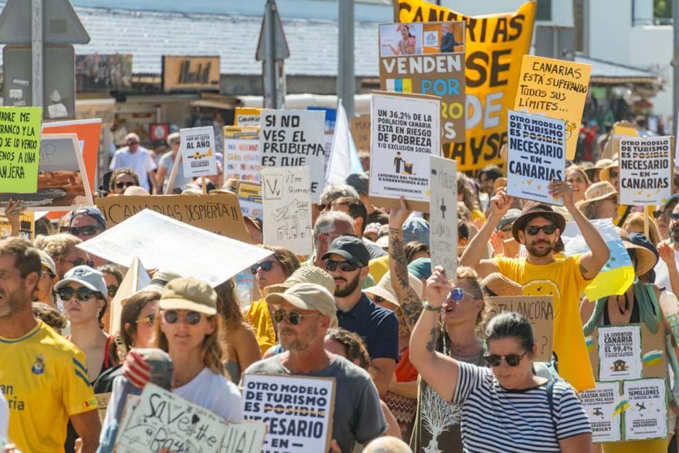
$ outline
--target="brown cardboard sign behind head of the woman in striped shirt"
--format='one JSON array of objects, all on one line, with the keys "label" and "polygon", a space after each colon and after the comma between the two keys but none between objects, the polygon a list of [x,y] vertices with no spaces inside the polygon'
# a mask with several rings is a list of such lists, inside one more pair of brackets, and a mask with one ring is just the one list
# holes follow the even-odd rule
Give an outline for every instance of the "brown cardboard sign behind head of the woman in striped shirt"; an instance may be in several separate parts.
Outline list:
[{"label": "brown cardboard sign behind head of the woman in striped shirt", "polygon": [[488,302],[490,302],[489,321],[494,315],[505,311],[514,311],[527,317],[533,327],[535,343],[538,345],[535,360],[552,361],[552,339],[554,337],[554,297],[552,295],[496,296],[488,297]]}]

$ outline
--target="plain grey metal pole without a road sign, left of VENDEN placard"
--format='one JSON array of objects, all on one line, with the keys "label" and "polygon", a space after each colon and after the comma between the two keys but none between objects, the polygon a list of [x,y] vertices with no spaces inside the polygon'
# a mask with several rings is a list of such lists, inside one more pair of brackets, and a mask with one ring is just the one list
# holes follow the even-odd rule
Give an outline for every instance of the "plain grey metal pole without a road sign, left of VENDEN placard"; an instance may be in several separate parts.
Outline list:
[{"label": "plain grey metal pole without a road sign, left of VENDEN placard", "polygon": [[354,0],[339,0],[339,61],[337,97],[342,99],[346,116],[354,114]]}]

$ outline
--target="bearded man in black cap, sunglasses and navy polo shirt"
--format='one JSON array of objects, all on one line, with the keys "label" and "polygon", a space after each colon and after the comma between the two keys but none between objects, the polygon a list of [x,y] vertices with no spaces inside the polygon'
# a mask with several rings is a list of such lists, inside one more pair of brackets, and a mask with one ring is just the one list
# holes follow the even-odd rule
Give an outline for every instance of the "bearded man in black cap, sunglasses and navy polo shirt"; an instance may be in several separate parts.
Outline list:
[{"label": "bearded man in black cap, sunglasses and navy polo shirt", "polygon": [[335,280],[339,327],[360,335],[373,360],[373,379],[379,394],[388,390],[399,359],[399,323],[393,311],[361,291],[368,276],[368,249],[359,238],[340,236],[322,256],[324,268]]}]

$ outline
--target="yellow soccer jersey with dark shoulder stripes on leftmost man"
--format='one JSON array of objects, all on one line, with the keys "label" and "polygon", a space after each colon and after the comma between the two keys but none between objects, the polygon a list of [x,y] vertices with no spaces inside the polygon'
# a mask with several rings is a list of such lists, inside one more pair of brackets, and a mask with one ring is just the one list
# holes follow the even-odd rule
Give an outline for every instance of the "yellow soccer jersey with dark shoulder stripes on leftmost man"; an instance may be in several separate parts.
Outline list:
[{"label": "yellow soccer jersey with dark shoulder stripes on leftmost man", "polygon": [[96,409],[85,355],[42,321],[21,338],[0,337],[0,391],[10,440],[24,453],[62,453],[68,419]]}]

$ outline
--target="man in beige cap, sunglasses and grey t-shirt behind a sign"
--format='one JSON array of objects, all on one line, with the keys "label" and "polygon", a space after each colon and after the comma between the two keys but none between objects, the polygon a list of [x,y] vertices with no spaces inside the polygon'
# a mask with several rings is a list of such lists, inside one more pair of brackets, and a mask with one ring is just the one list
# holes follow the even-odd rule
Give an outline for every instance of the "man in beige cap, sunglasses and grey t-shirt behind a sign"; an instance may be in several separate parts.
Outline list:
[{"label": "man in beige cap, sunglasses and grey t-shirt behind a sign", "polygon": [[324,348],[325,334],[337,322],[330,291],[317,284],[300,283],[284,293],[269,294],[266,301],[275,308],[280,344],[286,352],[255,362],[245,374],[333,377],[336,388],[332,432],[339,451],[351,453],[356,442],[368,443],[382,435],[386,421],[370,375]]}]

